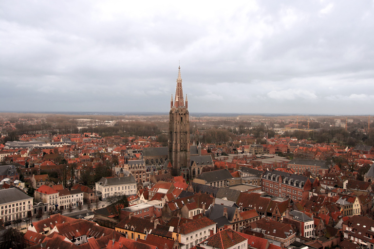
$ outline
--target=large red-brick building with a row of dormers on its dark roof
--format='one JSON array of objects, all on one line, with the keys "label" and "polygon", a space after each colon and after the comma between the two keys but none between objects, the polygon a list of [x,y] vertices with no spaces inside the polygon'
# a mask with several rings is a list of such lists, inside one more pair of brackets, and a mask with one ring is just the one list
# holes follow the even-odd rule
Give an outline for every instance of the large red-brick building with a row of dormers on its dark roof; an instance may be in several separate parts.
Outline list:
[{"label": "large red-brick building with a row of dormers on its dark roof", "polygon": [[294,202],[307,199],[309,191],[318,187],[319,182],[296,174],[281,171],[266,171],[262,177],[262,191],[272,196],[289,196]]}]

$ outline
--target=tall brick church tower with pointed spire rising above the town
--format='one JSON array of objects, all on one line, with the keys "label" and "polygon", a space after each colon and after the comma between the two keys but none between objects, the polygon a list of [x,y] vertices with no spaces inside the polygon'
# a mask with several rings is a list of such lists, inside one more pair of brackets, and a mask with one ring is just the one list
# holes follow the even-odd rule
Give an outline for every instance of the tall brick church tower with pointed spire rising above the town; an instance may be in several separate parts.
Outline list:
[{"label": "tall brick church tower with pointed spire rising above the town", "polygon": [[187,94],[186,102],[183,98],[181,67],[179,67],[175,99],[173,101],[173,95],[171,95],[169,112],[168,159],[173,165],[173,176],[180,176],[182,167],[189,168],[189,158],[188,101]]}]

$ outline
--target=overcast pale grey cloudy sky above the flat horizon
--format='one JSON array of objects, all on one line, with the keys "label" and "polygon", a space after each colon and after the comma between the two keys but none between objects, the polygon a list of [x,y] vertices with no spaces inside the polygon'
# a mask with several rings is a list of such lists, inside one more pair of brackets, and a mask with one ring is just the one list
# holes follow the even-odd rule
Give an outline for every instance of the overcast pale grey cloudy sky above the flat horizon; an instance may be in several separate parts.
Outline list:
[{"label": "overcast pale grey cloudy sky above the flat horizon", "polygon": [[374,114],[373,0],[0,1],[0,111]]}]

